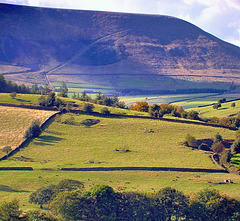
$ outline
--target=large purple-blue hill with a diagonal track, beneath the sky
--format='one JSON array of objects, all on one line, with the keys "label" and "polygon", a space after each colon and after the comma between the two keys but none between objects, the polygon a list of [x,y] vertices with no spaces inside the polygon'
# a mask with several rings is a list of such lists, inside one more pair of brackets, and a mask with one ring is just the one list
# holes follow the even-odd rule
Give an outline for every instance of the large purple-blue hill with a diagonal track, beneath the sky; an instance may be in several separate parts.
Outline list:
[{"label": "large purple-blue hill with a diagonal track, beneath the sky", "polygon": [[19,83],[126,94],[240,84],[240,48],[174,17],[0,4],[0,30],[0,73]]}]

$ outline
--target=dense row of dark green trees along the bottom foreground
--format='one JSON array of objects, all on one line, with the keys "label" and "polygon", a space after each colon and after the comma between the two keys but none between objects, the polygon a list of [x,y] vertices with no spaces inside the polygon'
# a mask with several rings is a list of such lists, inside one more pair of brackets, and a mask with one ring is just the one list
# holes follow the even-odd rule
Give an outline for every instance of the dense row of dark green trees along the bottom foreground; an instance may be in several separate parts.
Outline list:
[{"label": "dense row of dark green trees along the bottom foreground", "polygon": [[[90,190],[76,180],[63,180],[33,192],[29,202],[45,210],[23,214],[16,201],[0,205],[0,220],[188,220],[240,219],[240,202],[217,190],[184,195],[165,187],[156,193],[116,192],[107,185]],[[47,212],[45,212],[47,211]],[[21,218],[20,218],[21,217]]]}]

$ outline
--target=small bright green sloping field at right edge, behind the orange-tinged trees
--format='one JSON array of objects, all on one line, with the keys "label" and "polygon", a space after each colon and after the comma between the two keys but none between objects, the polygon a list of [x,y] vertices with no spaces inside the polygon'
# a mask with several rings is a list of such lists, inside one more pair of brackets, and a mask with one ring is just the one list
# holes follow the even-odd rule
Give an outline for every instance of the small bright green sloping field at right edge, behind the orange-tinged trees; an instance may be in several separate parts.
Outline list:
[{"label": "small bright green sloping field at right edge, behind the orange-tinged trees", "polygon": [[[235,103],[235,107],[231,107],[232,103]],[[222,103],[221,107],[214,109],[213,106],[194,108],[199,112],[202,117],[229,117],[233,115],[238,115],[240,112],[240,101],[232,101],[227,103]]]}]

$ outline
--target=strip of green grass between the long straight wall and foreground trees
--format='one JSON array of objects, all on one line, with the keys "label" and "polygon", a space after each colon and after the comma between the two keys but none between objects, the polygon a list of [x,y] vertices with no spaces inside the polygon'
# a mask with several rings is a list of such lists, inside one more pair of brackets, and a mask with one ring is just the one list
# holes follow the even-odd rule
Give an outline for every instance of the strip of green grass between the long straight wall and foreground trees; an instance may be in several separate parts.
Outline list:
[{"label": "strip of green grass between the long straight wall and foreground trees", "polygon": [[[62,179],[82,181],[86,189],[93,185],[106,184],[115,191],[134,191],[153,193],[171,186],[185,194],[198,192],[203,188],[218,189],[240,199],[240,177],[234,174],[190,173],[190,172],[152,172],[152,171],[114,171],[114,172],[65,172],[65,171],[0,171],[0,203],[18,199],[21,209],[38,208],[28,203],[29,195],[42,186],[57,184]],[[225,179],[234,184],[220,185]]]}]

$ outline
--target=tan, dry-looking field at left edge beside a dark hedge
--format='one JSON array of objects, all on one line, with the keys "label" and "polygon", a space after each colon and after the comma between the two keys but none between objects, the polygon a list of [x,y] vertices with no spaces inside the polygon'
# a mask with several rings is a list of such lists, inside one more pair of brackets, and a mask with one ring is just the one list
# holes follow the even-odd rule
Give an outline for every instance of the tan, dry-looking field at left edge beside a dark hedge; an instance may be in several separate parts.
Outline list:
[{"label": "tan, dry-looking field at left edge beside a dark hedge", "polygon": [[[54,111],[32,110],[0,106],[0,149],[11,146],[15,149],[24,141],[24,133],[34,120],[43,123]],[[4,155],[2,151],[0,156]]]}]

